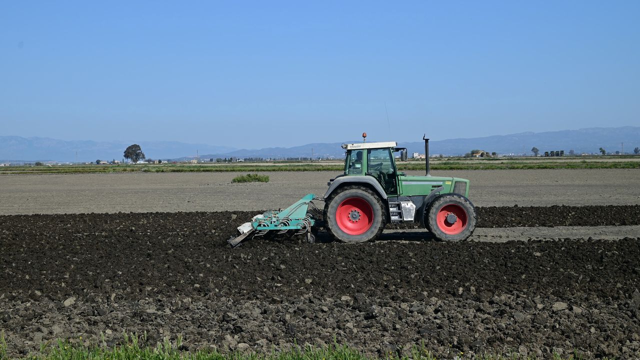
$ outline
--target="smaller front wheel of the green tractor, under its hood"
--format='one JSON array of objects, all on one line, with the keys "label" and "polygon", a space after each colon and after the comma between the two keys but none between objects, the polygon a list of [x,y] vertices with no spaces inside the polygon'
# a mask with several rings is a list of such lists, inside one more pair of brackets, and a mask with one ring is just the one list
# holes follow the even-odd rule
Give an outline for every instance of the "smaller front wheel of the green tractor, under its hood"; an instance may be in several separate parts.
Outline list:
[{"label": "smaller front wheel of the green tractor, under its hood", "polygon": [[[454,209],[454,211],[458,211],[458,209],[463,210],[463,213],[466,215],[466,219],[456,217],[454,223],[447,222],[446,220],[443,222],[442,219],[438,221],[438,213],[440,213],[440,210],[442,209],[444,213],[447,212],[445,206],[449,206],[449,208]],[[458,213],[458,215],[461,214],[462,213]],[[447,193],[436,197],[436,199],[429,204],[425,216],[426,219],[424,224],[426,224],[429,232],[438,240],[467,240],[467,238],[471,236],[476,229],[476,208],[474,208],[474,205],[469,201],[469,199],[457,193]],[[463,224],[463,222],[466,222],[466,224]],[[456,223],[458,223],[457,227],[461,227],[460,232],[457,233],[457,229],[454,228]]]}]

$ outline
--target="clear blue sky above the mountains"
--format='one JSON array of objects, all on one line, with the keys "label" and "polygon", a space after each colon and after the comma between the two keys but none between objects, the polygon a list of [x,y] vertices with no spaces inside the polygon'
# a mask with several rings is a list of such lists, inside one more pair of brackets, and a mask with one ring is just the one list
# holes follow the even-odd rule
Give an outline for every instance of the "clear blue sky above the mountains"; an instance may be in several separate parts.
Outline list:
[{"label": "clear blue sky above the mountains", "polygon": [[640,1],[3,1],[0,83],[0,135],[63,140],[638,126]]}]

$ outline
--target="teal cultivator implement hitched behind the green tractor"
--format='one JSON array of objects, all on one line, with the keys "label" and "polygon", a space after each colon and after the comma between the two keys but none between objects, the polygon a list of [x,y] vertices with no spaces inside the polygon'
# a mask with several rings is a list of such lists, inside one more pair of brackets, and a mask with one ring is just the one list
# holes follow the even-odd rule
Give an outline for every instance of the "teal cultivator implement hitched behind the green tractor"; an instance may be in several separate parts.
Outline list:
[{"label": "teal cultivator implement hitched behind the green tractor", "polygon": [[315,236],[311,233],[311,228],[316,225],[314,217],[321,214],[316,204],[312,202],[314,199],[316,195],[310,193],[289,208],[256,215],[250,222],[245,222],[238,227],[240,236],[230,238],[227,242],[232,247],[236,247],[249,235],[255,238],[255,236],[263,236],[274,231],[277,234],[307,234],[307,240],[313,242]]}]

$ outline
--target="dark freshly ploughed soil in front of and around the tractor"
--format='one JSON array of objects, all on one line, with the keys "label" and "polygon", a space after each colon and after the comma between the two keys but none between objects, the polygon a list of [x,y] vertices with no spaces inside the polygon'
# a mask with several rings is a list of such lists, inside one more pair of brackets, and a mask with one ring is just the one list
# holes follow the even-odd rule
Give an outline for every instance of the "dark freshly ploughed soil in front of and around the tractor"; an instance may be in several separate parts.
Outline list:
[{"label": "dark freshly ploughed soil in front of and around the tractor", "polygon": [[111,346],[127,331],[147,332],[149,345],[181,334],[189,350],[270,352],[335,338],[378,356],[424,341],[445,359],[574,350],[637,358],[640,238],[620,229],[637,232],[639,218],[593,227],[591,238],[589,214],[621,208],[584,210],[566,226],[581,233],[562,239],[486,208],[478,238],[497,226],[524,241],[399,241],[390,229],[374,243],[321,233],[315,244],[256,238],[237,249],[226,240],[251,213],[4,216],[0,329],[10,354],[56,338],[104,336]]}]

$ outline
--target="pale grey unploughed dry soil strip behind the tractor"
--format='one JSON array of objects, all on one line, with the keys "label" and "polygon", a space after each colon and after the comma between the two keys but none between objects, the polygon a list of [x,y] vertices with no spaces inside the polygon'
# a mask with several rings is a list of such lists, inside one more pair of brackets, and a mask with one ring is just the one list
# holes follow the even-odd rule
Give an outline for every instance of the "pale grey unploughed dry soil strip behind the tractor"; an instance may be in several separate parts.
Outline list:
[{"label": "pale grey unploughed dry soil strip behind the tractor", "polygon": [[[408,172],[420,175],[420,172]],[[323,195],[336,172],[267,172],[269,183],[232,184],[234,172],[0,176],[0,215],[286,208]],[[470,179],[476,206],[640,204],[640,170],[451,170]]]}]

